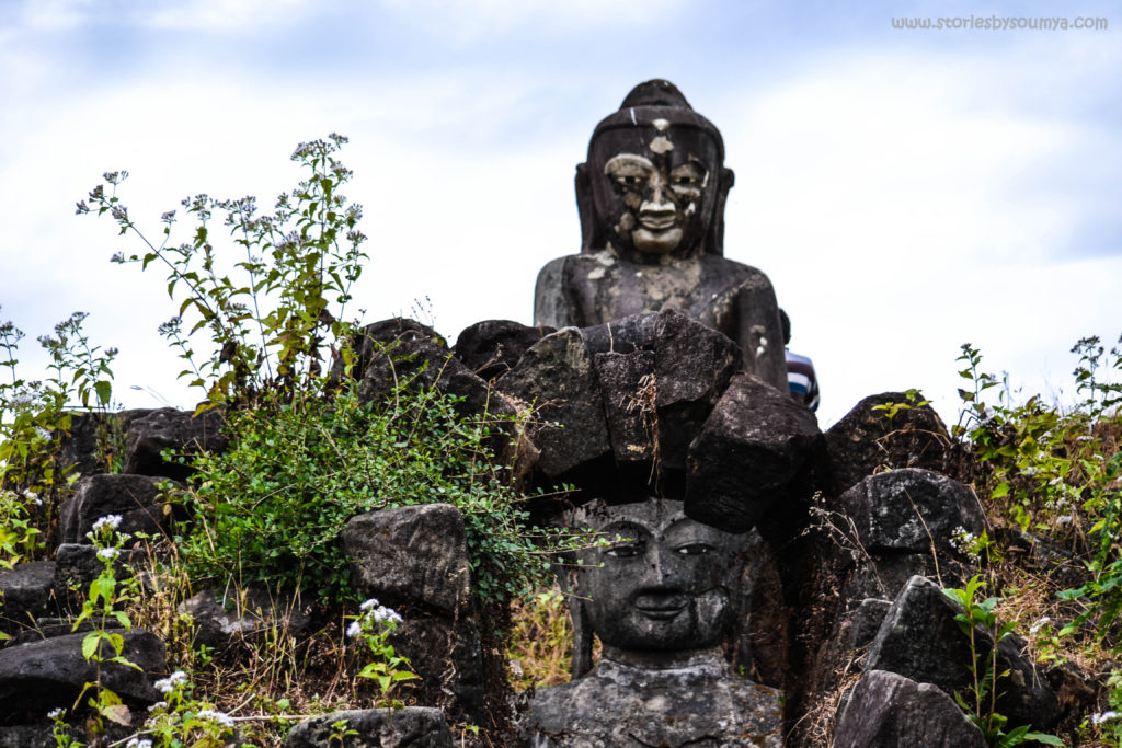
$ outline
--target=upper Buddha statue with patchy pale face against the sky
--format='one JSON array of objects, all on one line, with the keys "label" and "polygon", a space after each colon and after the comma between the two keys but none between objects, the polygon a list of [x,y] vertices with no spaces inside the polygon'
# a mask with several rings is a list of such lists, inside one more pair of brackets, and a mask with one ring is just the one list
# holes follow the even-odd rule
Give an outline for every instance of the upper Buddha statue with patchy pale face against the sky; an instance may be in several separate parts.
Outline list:
[{"label": "upper Buddha statue with patchy pale face against the sky", "polygon": [[723,257],[724,160],[720,132],[672,83],[635,86],[577,167],[581,250],[539,273],[534,323],[588,327],[674,308],[728,335],[745,371],[785,390],[771,281]]}]

